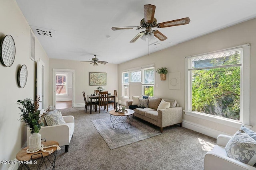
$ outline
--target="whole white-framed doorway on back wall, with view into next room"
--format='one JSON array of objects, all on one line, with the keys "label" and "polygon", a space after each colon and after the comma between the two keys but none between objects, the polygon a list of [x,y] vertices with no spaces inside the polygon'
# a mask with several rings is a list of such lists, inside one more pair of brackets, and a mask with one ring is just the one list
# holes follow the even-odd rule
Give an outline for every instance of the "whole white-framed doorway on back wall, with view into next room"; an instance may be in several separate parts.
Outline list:
[{"label": "whole white-framed doorway on back wall, with view into next room", "polygon": [[74,107],[74,70],[53,69],[54,109]]}]

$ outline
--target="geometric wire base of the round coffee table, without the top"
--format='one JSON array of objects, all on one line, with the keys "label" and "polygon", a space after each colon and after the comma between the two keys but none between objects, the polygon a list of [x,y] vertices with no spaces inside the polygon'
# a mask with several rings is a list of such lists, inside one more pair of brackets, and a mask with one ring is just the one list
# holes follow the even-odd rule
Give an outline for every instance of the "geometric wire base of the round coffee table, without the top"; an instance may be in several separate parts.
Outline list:
[{"label": "geometric wire base of the round coffee table, without the top", "polygon": [[133,118],[134,118],[133,115],[118,116],[118,115],[110,114],[110,121],[112,123],[113,128],[115,129],[130,128],[132,126]]}]

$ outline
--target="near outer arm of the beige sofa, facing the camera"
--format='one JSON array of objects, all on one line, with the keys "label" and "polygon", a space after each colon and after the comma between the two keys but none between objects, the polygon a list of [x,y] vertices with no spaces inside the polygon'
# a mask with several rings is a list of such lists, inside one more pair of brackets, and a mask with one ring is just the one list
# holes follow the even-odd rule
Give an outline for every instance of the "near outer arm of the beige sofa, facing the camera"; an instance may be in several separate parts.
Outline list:
[{"label": "near outer arm of the beige sofa, facing the camera", "polygon": [[160,127],[182,123],[182,107],[158,110],[158,120],[162,120],[160,121],[162,123]]}]

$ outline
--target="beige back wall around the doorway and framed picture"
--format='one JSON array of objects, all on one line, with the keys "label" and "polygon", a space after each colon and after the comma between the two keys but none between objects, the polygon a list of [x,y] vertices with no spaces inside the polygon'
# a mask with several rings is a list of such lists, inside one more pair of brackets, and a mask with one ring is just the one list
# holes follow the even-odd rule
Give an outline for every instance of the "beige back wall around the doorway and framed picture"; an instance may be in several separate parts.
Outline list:
[{"label": "beige back wall around the doorway and framed picture", "polygon": [[[114,90],[118,89],[118,64],[99,64],[99,66],[92,66],[88,63],[80,63],[79,61],[72,60],[60,60],[50,59],[49,65],[49,104],[52,105],[53,101],[53,68],[61,69],[74,69],[75,70],[75,82],[73,88],[75,88],[75,101],[74,107],[84,106],[84,98],[82,91],[86,95],[94,93],[94,90],[98,86],[89,85],[89,72],[106,72],[107,73],[107,85],[103,86],[104,91],[114,93]],[[118,92],[119,94],[119,92]]]}]

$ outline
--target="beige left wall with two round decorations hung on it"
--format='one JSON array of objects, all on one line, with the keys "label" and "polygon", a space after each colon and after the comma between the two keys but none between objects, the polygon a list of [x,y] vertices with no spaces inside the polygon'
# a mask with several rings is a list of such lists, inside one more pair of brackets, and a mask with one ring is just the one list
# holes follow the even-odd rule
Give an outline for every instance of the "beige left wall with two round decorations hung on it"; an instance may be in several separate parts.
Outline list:
[{"label": "beige left wall with two round decorations hung on it", "polygon": [[[30,56],[30,26],[18,8],[15,0],[1,0],[0,5],[0,39],[5,35],[12,35],[16,55],[12,66],[5,67],[0,64],[0,160],[14,160],[26,142],[26,128],[18,119],[19,109],[15,104],[17,100],[25,98],[34,99],[36,93],[36,63]],[[36,60],[42,59],[45,63],[46,92],[48,91],[48,57],[36,39]],[[19,66],[26,64],[28,80],[24,88],[18,87],[17,72]],[[46,94],[48,98],[48,94]],[[46,105],[48,102],[46,101]],[[0,170],[6,170],[9,165],[0,164]]]}]

